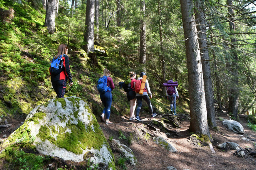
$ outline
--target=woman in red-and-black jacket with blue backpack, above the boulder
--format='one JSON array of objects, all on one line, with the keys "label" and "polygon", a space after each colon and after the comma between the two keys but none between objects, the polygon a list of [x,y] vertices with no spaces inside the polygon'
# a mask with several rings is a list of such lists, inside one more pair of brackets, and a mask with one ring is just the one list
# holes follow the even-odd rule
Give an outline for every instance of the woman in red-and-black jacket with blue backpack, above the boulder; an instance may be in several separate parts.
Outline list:
[{"label": "woman in red-and-black jacket with blue backpack, above the boulder", "polygon": [[58,48],[58,53],[51,61],[49,69],[52,87],[54,88],[58,98],[64,98],[68,80],[69,85],[73,85],[69,66],[69,56],[67,56],[68,50],[69,48],[67,45],[61,44]]}]

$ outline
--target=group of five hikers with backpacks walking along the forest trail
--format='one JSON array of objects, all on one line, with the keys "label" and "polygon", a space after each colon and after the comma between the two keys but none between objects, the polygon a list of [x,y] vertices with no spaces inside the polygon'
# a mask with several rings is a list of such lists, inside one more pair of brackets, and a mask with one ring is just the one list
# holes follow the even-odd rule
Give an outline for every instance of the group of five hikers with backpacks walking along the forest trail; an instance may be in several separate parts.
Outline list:
[{"label": "group of five hikers with backpacks walking along the forest trail", "polygon": [[[67,86],[67,81],[69,80],[69,85],[72,86],[72,76],[70,73],[69,57],[67,56],[68,47],[67,45],[60,45],[58,48],[57,55],[50,62],[50,75],[52,81],[52,87],[57,94],[58,98],[64,98],[65,89]],[[149,87],[149,81],[146,79],[146,73],[141,72],[140,77],[137,78],[137,74],[133,71],[129,72],[130,79],[125,82],[119,82],[119,86],[124,88],[128,101],[130,101],[130,119],[141,121],[139,117],[139,112],[141,111],[142,99],[146,101],[151,118],[156,117],[157,114],[153,112],[150,99],[152,99],[152,93]],[[164,83],[166,86],[167,99],[171,102],[171,114],[176,115],[176,97],[179,98],[179,93],[177,91],[177,82],[172,79]],[[112,104],[112,90],[115,88],[113,79],[110,77],[110,71],[105,68],[103,71],[103,76],[99,78],[97,89],[100,92],[100,100],[104,105],[102,115],[100,120],[105,122],[105,124],[112,124],[109,121],[110,117],[110,107]],[[137,99],[137,103],[136,103]],[[136,116],[134,115],[135,108]],[[106,119],[105,119],[106,116]]]}]

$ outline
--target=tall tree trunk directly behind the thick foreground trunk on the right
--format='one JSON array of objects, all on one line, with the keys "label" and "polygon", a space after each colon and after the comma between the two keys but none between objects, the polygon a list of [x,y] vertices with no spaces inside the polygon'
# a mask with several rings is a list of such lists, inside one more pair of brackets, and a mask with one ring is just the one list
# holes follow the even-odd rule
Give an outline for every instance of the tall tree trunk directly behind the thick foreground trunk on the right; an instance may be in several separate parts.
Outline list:
[{"label": "tall tree trunk directly behind the thick foreground trunk on the right", "polygon": [[[204,0],[196,0],[195,2],[195,17],[196,17],[196,28],[198,31],[199,38],[199,48],[200,55],[202,60],[209,60],[208,45],[206,41],[206,26],[205,26],[205,17],[204,17]],[[209,61],[202,61],[202,72],[204,78],[204,94],[206,100],[206,109],[207,109],[207,120],[210,127],[217,127],[215,120],[215,111],[214,111],[214,98],[212,90],[212,78],[211,78],[211,68]]]}]

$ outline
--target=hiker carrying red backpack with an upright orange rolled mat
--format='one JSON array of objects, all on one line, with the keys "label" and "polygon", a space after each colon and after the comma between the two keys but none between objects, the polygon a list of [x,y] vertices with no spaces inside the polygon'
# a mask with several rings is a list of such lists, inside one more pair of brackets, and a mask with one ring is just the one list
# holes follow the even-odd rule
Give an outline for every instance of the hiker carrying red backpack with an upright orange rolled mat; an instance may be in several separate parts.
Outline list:
[{"label": "hiker carrying red backpack with an upright orange rolled mat", "polygon": [[[136,82],[134,82],[134,87],[136,87],[136,83],[138,83],[139,81],[142,81],[142,77],[144,75],[146,75],[146,73],[141,72],[140,77],[137,79]],[[141,118],[139,117],[139,112],[141,111],[142,99],[144,99],[144,101],[146,101],[147,106],[149,107],[149,112],[151,114],[151,118],[156,117],[156,113],[153,113],[153,108],[152,108],[152,105],[151,105],[151,101],[149,99],[149,96],[152,99],[152,93],[150,91],[149,81],[147,79],[146,79],[146,82],[145,82],[145,86],[140,87],[140,89],[144,89],[144,91],[143,91],[143,94],[136,93],[136,98],[137,98],[138,105],[137,105],[137,109],[136,109],[136,118],[135,119],[138,120],[138,121],[141,121]],[[149,94],[149,96],[148,96],[148,94]]]}]

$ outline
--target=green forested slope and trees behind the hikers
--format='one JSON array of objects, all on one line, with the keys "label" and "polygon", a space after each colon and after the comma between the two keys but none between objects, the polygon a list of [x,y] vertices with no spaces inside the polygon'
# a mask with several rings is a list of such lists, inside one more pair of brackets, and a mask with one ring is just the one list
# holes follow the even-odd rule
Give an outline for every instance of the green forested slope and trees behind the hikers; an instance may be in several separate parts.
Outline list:
[{"label": "green forested slope and trees behind the hikers", "polygon": [[[52,10],[50,2],[57,4],[54,12],[51,11],[55,13],[54,23],[52,20],[47,23],[46,19],[47,10]],[[99,12],[95,10],[97,2]],[[95,4],[95,12],[86,18],[89,3]],[[103,109],[96,86],[104,68],[111,71],[116,85],[113,114],[129,113],[125,93],[117,86],[119,81],[129,78],[129,71],[146,71],[153,92],[151,102],[160,113],[169,113],[162,83],[170,78],[178,81],[181,100],[177,112],[185,113],[189,110],[188,101],[193,98],[192,91],[201,96],[207,91],[189,88],[192,74],[189,75],[186,61],[195,50],[185,48],[188,39],[184,38],[187,30],[185,22],[182,23],[182,4],[187,3],[192,4],[187,10],[191,13],[189,17],[196,17],[191,23],[196,23],[199,30],[198,38],[195,35],[197,44],[200,40],[206,43],[203,47],[199,44],[201,60],[197,62],[199,67],[208,65],[210,69],[208,89],[212,89],[214,100],[210,104],[213,110],[207,112],[215,117],[217,110],[228,109],[233,119],[238,118],[238,113],[255,116],[254,0],[199,0],[195,3],[182,0],[0,0],[1,117],[23,117],[33,107],[55,97],[49,62],[60,44],[69,46],[74,81],[72,87],[67,87],[66,96],[78,96],[89,102],[95,116],[100,116]],[[198,18],[197,13],[201,13],[201,17]],[[86,24],[92,21],[89,19],[94,20],[94,26]],[[94,32],[88,32],[89,28]],[[203,33],[201,37],[200,33]],[[94,44],[89,43],[90,38],[94,39]],[[96,62],[90,51],[97,54]],[[208,59],[202,56],[206,53]],[[205,86],[202,79],[194,81]],[[203,102],[206,101],[202,97]],[[210,122],[208,116],[209,126],[216,127],[216,123]]]}]

